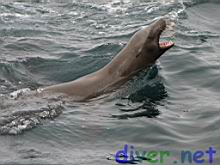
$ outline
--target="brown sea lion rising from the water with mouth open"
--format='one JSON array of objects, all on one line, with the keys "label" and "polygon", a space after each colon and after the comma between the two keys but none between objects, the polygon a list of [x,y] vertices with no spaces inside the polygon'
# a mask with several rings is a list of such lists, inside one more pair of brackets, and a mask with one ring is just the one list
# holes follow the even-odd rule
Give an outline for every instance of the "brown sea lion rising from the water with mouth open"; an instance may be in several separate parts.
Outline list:
[{"label": "brown sea lion rising from the water with mouth open", "polygon": [[41,92],[59,93],[83,101],[119,88],[174,46],[171,41],[159,43],[166,26],[166,20],[159,19],[137,31],[112,61],[100,70],[71,82],[42,88]]}]

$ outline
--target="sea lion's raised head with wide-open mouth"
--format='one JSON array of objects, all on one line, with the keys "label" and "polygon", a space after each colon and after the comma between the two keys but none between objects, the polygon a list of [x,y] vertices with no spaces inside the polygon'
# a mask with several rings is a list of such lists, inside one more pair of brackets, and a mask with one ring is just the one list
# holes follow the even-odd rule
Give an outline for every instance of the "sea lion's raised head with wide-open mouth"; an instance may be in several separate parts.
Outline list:
[{"label": "sea lion's raised head with wide-open mouth", "polygon": [[168,20],[159,19],[137,31],[127,46],[124,48],[124,62],[119,72],[121,76],[133,75],[143,70],[155,61],[168,49],[174,46],[174,42],[160,42],[161,33],[166,29]]}]

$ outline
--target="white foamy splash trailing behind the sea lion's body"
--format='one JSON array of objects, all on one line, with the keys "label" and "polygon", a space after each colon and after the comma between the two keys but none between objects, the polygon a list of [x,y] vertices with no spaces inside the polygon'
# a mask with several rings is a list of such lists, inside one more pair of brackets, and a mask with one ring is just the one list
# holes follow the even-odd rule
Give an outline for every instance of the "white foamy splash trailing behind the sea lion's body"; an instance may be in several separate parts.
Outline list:
[{"label": "white foamy splash trailing behind the sea lion's body", "polygon": [[21,134],[62,113],[63,102],[59,98],[37,97],[40,92],[41,89],[23,88],[0,97],[0,135]]}]

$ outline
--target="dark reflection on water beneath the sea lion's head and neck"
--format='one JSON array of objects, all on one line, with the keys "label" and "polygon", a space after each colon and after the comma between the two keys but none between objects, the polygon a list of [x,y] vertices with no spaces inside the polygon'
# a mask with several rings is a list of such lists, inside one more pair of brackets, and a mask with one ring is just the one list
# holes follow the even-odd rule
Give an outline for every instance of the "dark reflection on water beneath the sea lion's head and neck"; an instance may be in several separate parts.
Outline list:
[{"label": "dark reflection on water beneath the sea lion's head and neck", "polygon": [[157,79],[157,74],[156,65],[148,69],[145,76],[140,74],[140,78],[132,82],[132,87],[128,88],[131,93],[126,97],[121,97],[121,100],[116,103],[123,113],[112,115],[112,117],[119,119],[157,117],[160,114],[157,105],[162,104],[161,101],[167,97],[166,89],[163,83]]}]

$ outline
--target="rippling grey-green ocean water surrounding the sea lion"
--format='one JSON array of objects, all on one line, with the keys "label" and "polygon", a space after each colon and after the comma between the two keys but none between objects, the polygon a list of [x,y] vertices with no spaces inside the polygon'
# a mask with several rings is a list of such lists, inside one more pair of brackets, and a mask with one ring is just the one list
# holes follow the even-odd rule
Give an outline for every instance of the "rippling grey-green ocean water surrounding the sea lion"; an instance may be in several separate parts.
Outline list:
[{"label": "rippling grey-green ocean water surrounding the sea lion", "polygon": [[[170,151],[164,165],[214,147],[219,164],[219,8],[218,0],[0,1],[0,164],[112,165],[125,144]],[[176,22],[175,46],[123,89],[81,103],[17,98],[98,70],[161,17]]]}]

